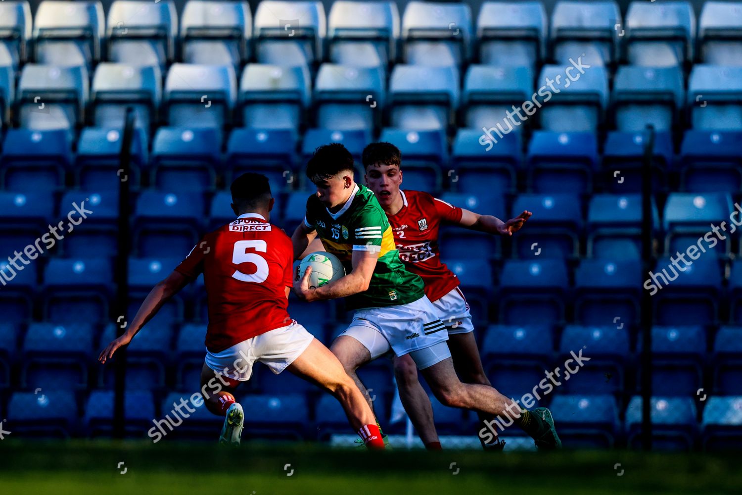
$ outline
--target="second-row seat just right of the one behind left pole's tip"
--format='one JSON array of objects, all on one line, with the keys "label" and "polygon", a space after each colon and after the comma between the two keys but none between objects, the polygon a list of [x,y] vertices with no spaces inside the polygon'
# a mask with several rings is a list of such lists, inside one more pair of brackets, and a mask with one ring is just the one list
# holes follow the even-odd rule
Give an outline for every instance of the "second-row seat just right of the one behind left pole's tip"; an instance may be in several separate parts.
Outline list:
[{"label": "second-row seat just right of the one behind left pole's tip", "polygon": [[162,103],[168,125],[217,129],[231,125],[237,104],[234,68],[175,63],[165,78]]}]

